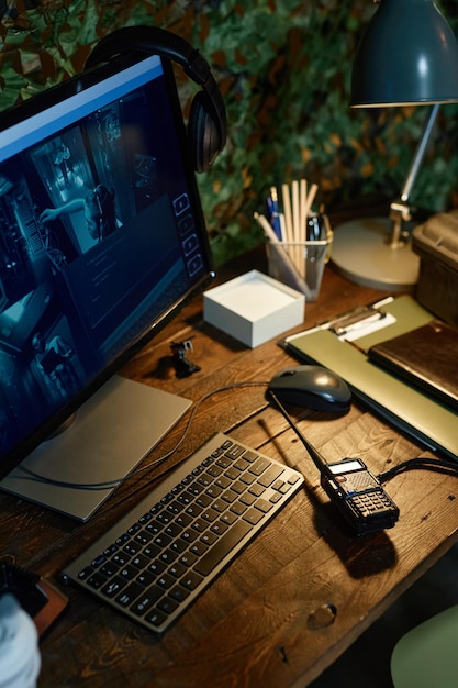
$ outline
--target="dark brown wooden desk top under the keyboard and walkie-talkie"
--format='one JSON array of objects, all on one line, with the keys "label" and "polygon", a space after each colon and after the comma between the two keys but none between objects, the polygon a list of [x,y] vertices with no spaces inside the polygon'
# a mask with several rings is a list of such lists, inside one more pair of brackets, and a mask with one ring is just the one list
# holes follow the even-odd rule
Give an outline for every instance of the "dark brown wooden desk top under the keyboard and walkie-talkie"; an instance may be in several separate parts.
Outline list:
[{"label": "dark brown wooden desk top under the keyboard and walkie-talkie", "polygon": [[[259,258],[259,256],[258,256]],[[262,256],[259,258],[262,263]],[[256,265],[238,262],[245,271]],[[306,324],[380,292],[356,287],[326,268]],[[298,328],[300,330],[300,328]],[[170,342],[193,336],[201,370],[177,379],[163,364]],[[268,380],[293,365],[275,341],[254,351],[202,321],[202,301],[187,307],[124,369],[129,377],[197,400],[243,380]],[[164,443],[172,446],[181,422]],[[376,473],[422,450],[354,404],[338,419],[304,412],[300,426],[328,460],[360,456]],[[262,388],[213,396],[168,462],[215,430],[299,468],[306,488],[199,598],[164,637],[155,637],[87,593],[66,589],[69,604],[42,642],[41,686],[303,688],[333,663],[457,540],[456,478],[426,471],[398,476],[387,491],[401,509],[387,533],[350,536],[319,486],[317,473]],[[154,452],[164,453],[165,446]],[[0,496],[0,554],[55,579],[63,565],[118,520],[147,489],[147,477],[121,487],[80,525],[8,495]],[[336,610],[334,617],[329,609]]]}]

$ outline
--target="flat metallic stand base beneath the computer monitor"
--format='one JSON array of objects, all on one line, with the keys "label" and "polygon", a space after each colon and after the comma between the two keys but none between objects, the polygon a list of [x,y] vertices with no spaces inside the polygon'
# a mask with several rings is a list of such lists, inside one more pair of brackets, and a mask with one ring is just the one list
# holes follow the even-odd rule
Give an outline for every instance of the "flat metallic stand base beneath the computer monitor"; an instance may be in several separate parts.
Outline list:
[{"label": "flat metallic stand base beneath the computer monitor", "polygon": [[188,399],[114,376],[78,410],[65,432],[43,442],[0,488],[87,521],[118,487],[97,484],[124,478],[190,406]]}]

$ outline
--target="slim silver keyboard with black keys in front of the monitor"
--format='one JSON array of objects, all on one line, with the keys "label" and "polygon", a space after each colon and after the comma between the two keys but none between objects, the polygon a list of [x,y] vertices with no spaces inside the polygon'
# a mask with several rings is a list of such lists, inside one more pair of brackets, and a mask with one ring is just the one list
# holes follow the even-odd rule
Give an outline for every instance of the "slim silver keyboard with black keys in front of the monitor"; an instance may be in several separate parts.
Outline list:
[{"label": "slim silver keyboard with black keys in front of the monitor", "polygon": [[216,433],[64,577],[163,633],[303,481],[297,470]]}]

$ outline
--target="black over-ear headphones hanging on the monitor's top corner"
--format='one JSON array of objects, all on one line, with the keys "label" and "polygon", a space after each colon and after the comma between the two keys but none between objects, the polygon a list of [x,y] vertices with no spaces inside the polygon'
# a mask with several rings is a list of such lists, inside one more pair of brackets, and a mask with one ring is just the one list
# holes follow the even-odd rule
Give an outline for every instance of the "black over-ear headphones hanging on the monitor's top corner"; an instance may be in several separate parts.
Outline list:
[{"label": "black over-ear headphones hanging on the monitor's top corner", "polygon": [[157,26],[126,26],[108,34],[94,46],[86,68],[132,52],[171,59],[202,87],[192,99],[187,137],[196,171],[206,171],[226,142],[226,112],[210,65],[197,48],[169,31]]}]

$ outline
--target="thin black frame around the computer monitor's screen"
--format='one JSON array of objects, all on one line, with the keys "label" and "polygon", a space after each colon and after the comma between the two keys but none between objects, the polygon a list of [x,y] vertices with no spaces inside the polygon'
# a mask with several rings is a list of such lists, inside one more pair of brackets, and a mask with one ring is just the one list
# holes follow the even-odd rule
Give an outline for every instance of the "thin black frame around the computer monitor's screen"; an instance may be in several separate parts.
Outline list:
[{"label": "thin black frame around the computer monitor's screen", "polygon": [[[67,81],[51,87],[49,89],[34,96],[30,100],[0,112],[0,132],[12,127],[20,122],[25,122],[30,118],[33,118],[34,115],[53,108],[59,102],[80,93],[81,90],[96,86],[100,81],[116,75],[120,70],[126,69],[144,59],[147,59],[144,55],[133,53],[122,54],[109,63],[103,63],[97,67],[90,68],[87,71],[76,75]],[[186,303],[199,295],[215,277],[196,173],[192,168],[191,156],[188,149],[186,124],[179,101],[174,68],[170,60],[167,58],[158,57],[158,59],[160,59],[164,70],[165,84],[175,121],[175,130],[177,132],[179,146],[182,152],[183,170],[187,177],[193,210],[196,212],[196,221],[199,226],[201,247],[205,262],[204,270],[202,276],[196,281],[196,284],[192,285],[191,288],[183,291],[182,296],[178,300],[170,303],[170,306],[158,314],[153,322],[148,323],[148,325],[143,329],[135,340],[131,341],[130,344],[123,348],[123,351],[121,351],[112,362],[107,364],[107,366],[100,370],[98,375],[90,380],[69,402],[58,409],[52,418],[45,420],[38,428],[24,437],[23,441],[16,445],[16,447],[3,457],[0,457],[0,478],[7,476],[13,468],[20,465],[20,463],[33,450],[35,450],[49,436],[53,436],[53,434],[65,425],[65,423],[68,422],[75,412],[77,412],[78,409],[94,395],[94,392],[97,392],[114,374],[116,374],[130,359],[132,359],[148,342],[150,342],[150,340],[158,332],[160,332],[174,319],[174,317],[178,314]]]}]

